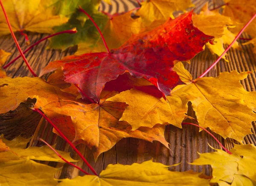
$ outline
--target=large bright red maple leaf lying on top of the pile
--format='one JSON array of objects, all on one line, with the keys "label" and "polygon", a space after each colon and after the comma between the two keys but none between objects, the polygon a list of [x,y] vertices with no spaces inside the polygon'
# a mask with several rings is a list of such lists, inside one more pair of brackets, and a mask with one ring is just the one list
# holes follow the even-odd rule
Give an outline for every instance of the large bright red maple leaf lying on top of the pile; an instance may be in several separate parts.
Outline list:
[{"label": "large bright red maple leaf lying on top of the pile", "polygon": [[98,101],[106,82],[128,71],[135,78],[149,79],[169,95],[170,90],[180,84],[172,71],[173,61],[189,60],[212,38],[193,26],[191,16],[192,12],[188,12],[154,30],[134,35],[110,54],[71,55],[52,61],[40,76],[61,67],[64,81],[78,84],[87,96]]}]

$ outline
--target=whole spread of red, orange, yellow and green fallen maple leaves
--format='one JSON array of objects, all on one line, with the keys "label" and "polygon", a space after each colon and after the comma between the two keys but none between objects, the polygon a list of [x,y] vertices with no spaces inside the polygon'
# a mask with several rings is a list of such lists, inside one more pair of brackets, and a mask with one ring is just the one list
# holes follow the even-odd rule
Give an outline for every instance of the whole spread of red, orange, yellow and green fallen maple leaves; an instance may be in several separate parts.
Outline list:
[{"label": "whole spread of red, orange, yellow and green fallen maple leaves", "polygon": [[[50,62],[39,77],[9,78],[0,70],[0,113],[31,102],[28,108],[43,112],[42,116],[59,130],[53,132],[62,133],[73,145],[84,143],[93,149],[95,160],[126,137],[156,140],[169,148],[165,126],[182,128],[188,117],[188,102],[192,103],[199,127],[240,143],[252,134],[256,93],[244,90],[240,81],[253,72],[234,70],[215,78],[193,79],[181,61],[189,62],[204,47],[221,56],[223,45],[231,44],[255,15],[254,0],[226,0],[222,14],[218,9],[209,10],[207,5],[200,14],[186,12],[193,7],[190,0],[147,0],[140,9],[114,15],[98,11],[100,0],[2,2],[12,29],[25,37],[26,31],[53,33],[76,27],[75,34],[50,38],[48,47],[67,49],[78,45],[78,51]],[[83,9],[99,26],[105,42]],[[184,13],[175,18],[175,11]],[[252,38],[256,37],[255,24],[253,20],[245,30]],[[9,28],[1,12],[0,35],[7,34]],[[255,39],[247,44],[255,44]],[[233,47],[239,48],[238,42]],[[1,66],[8,55],[0,50]],[[227,61],[225,55],[222,58]],[[47,80],[40,78],[53,71]],[[218,149],[200,154],[192,164],[211,165],[210,177],[192,171],[172,172],[169,166],[146,161],[131,166],[108,165],[99,175],[55,180],[57,168],[33,160],[76,161],[69,153],[56,152],[63,160],[51,146],[26,148],[30,139],[18,136],[9,141],[4,138],[4,128],[0,128],[0,134],[3,186],[256,184],[256,147],[252,144],[235,145],[229,154]]]}]

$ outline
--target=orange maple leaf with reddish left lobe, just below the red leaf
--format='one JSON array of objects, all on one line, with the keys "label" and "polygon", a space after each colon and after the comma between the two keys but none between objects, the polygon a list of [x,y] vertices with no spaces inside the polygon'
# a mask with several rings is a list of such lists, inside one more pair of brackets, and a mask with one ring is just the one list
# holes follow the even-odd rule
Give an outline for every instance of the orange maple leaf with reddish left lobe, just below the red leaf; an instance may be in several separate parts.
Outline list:
[{"label": "orange maple leaf with reddish left lobe, just below the red leaf", "polygon": [[70,128],[68,130],[63,130],[62,128],[62,132],[69,136],[70,140],[73,140],[76,145],[83,140],[89,148],[96,147],[97,149],[94,152],[95,159],[99,154],[108,151],[124,137],[134,137],[150,142],[157,140],[169,148],[169,143],[164,138],[165,126],[142,127],[136,131],[131,131],[131,126],[128,123],[119,122],[119,118],[127,105],[125,103],[105,102],[105,99],[112,96],[112,94],[110,93],[105,98],[100,99],[99,105],[76,102],[76,104],[63,104],[61,107],[47,105],[42,110],[47,113],[47,116],[51,111],[59,114],[55,117],[50,114],[49,118],[52,121],[61,118],[63,115],[70,116],[71,123],[68,123],[70,120],[64,122],[64,119],[62,119],[61,121],[62,125],[74,125],[75,136],[72,137],[70,135],[70,133],[73,133]]}]

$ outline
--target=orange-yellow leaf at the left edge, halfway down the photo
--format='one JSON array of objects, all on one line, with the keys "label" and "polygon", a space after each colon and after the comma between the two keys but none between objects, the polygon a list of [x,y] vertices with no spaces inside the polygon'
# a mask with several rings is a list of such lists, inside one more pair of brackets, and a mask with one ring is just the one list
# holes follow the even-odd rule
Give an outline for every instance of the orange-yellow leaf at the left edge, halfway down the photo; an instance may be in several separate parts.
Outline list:
[{"label": "orange-yellow leaf at the left edge, halfway down the photo", "polygon": [[0,113],[15,110],[28,98],[36,98],[35,108],[42,108],[50,102],[58,105],[60,97],[75,99],[75,96],[64,94],[59,87],[48,84],[41,78],[3,78],[0,79]]}]

